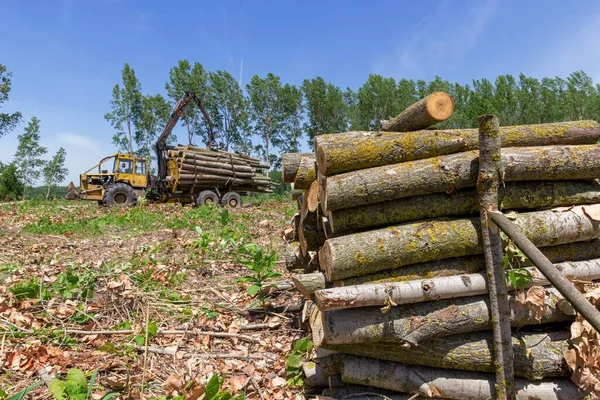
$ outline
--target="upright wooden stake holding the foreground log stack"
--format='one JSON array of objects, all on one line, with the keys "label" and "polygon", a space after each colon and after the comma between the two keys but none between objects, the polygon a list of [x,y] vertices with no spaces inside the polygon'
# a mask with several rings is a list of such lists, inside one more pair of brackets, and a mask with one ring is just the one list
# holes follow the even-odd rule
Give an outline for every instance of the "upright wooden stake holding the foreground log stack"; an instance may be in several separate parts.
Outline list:
[{"label": "upright wooden stake holding the foreground log stack", "polygon": [[481,212],[481,237],[485,257],[490,310],[494,331],[494,362],[496,366],[496,399],[515,399],[513,349],[510,329],[510,308],[502,260],[500,230],[488,218],[488,211],[498,210],[498,189],[502,181],[500,158],[500,124],[495,115],[481,115],[479,123],[479,174],[477,193]]}]

